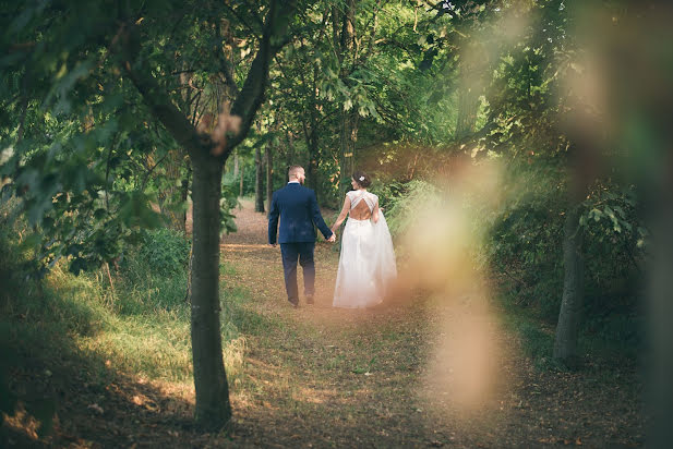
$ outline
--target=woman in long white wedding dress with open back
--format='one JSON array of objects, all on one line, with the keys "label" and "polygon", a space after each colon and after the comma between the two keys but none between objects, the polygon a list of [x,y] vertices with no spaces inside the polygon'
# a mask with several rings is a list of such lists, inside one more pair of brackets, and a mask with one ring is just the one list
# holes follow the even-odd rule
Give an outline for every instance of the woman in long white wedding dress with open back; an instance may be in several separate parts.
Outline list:
[{"label": "woman in long white wedding dress with open back", "polygon": [[356,171],[344,208],[332,226],[336,233],[348,215],[341,236],[341,255],[334,290],[335,307],[359,308],[383,301],[386,288],[397,277],[395,252],[388,226],[378,208],[378,197],[366,191],[370,178]]}]

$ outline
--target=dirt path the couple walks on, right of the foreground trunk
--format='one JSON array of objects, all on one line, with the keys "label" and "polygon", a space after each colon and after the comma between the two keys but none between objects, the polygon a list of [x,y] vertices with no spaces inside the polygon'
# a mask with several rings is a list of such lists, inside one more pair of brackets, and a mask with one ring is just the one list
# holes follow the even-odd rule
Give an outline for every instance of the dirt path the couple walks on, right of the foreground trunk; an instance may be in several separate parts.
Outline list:
[{"label": "dirt path the couple walks on, right of the foreground trunk", "polygon": [[250,299],[245,361],[230,379],[236,446],[638,446],[633,390],[536,371],[469,298],[333,308],[338,253],[319,243],[315,305],[290,307],[266,216],[242,205],[221,245],[225,302],[228,289]]}]

